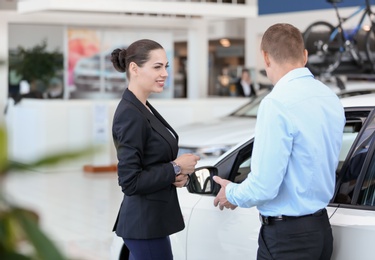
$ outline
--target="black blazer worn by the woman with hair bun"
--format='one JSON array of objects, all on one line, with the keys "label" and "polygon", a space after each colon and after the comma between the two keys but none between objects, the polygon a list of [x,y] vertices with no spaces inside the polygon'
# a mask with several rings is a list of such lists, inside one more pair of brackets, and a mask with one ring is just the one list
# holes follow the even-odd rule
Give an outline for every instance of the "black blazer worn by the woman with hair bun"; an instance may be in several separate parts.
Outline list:
[{"label": "black blazer worn by the woman with hair bun", "polygon": [[124,193],[113,231],[128,239],[165,237],[185,227],[170,163],[177,156],[178,135],[147,105],[152,113],[126,89],[112,126]]}]

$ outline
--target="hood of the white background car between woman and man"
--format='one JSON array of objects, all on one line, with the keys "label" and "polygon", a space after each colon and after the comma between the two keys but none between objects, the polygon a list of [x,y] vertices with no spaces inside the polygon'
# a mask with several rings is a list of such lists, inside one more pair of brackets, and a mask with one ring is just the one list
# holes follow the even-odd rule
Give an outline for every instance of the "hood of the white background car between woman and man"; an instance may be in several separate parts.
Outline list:
[{"label": "hood of the white background car between woman and man", "polygon": [[234,145],[250,137],[256,118],[226,116],[176,129],[180,147]]}]

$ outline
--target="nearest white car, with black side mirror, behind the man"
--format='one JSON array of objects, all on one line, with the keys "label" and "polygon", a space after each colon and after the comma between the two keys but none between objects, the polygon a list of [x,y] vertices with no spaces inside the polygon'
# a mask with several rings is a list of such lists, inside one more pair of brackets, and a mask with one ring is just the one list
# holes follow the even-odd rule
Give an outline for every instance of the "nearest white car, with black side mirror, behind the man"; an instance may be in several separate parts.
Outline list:
[{"label": "nearest white car, with black side mirror, behind the man", "polygon": [[[341,99],[346,126],[335,195],[327,207],[334,235],[332,259],[374,259],[375,236],[375,94]],[[218,185],[213,175],[242,182],[250,172],[253,137],[237,144],[212,165],[200,165],[192,182],[178,189],[185,229],[171,236],[176,260],[256,259],[259,212],[254,208],[223,210],[213,206]],[[355,167],[354,167],[355,165]],[[356,172],[354,172],[356,170]],[[116,239],[115,258],[127,259]],[[123,257],[120,257],[122,250]]]}]

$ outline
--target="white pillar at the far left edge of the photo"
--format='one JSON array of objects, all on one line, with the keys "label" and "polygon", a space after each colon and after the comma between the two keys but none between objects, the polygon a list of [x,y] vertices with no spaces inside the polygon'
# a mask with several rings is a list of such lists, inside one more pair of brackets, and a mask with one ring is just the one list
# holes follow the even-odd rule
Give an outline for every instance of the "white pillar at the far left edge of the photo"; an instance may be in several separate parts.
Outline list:
[{"label": "white pillar at the far left edge of the photo", "polygon": [[[0,119],[8,99],[8,20],[0,11]],[[5,63],[4,63],[5,62]],[[1,121],[1,120],[0,120]]]}]

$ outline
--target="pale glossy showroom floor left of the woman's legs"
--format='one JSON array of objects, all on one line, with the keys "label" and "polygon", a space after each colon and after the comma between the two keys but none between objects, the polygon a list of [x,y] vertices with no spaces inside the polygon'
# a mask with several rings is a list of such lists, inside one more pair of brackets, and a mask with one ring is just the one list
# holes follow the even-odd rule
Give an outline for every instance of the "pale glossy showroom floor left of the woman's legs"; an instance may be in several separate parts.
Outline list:
[{"label": "pale glossy showroom floor left of the woman's legs", "polygon": [[110,259],[122,199],[116,173],[15,173],[5,189],[14,202],[39,214],[42,229],[70,259]]}]

